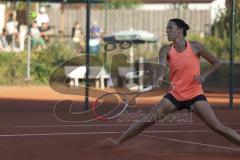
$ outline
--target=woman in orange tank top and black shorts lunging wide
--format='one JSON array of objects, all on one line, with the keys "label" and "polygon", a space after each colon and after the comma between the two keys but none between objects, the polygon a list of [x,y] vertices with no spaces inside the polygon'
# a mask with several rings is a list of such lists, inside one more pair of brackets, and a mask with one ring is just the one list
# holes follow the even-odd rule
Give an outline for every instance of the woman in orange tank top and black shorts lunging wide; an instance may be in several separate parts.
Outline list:
[{"label": "woman in orange tank top and black shorts lunging wide", "polygon": [[[188,24],[181,19],[169,20],[166,28],[167,38],[171,45],[163,46],[159,52],[161,66],[170,67],[171,87],[163,99],[151,110],[146,117],[148,121],[136,122],[123,133],[119,139],[109,138],[112,145],[119,145],[136,136],[145,128],[169,113],[181,109],[195,112],[211,129],[230,142],[240,145],[240,135],[222,124],[215,116],[206,97],[202,83],[221,65],[221,61],[211,54],[201,43],[185,39],[189,30]],[[200,57],[212,64],[212,67],[200,75]],[[164,68],[164,67],[163,67]],[[158,81],[161,82],[163,70],[158,71]],[[156,116],[152,116],[152,114]],[[154,118],[157,117],[157,118]]]}]

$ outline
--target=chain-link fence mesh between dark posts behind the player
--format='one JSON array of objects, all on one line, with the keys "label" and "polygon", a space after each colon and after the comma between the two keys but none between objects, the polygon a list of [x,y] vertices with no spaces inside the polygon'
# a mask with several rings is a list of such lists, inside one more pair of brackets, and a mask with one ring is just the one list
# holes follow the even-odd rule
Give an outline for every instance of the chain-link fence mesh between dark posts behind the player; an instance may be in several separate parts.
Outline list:
[{"label": "chain-link fence mesh between dark posts behind the player", "polygon": [[[102,62],[105,67],[104,72],[110,72],[110,63],[116,64],[118,62],[111,61],[113,55],[116,54],[125,54],[131,58],[129,53],[132,52],[132,61],[134,62],[139,62],[139,58],[143,57],[143,61],[155,63],[159,48],[163,44],[169,43],[166,38],[167,22],[171,18],[178,17],[184,19],[190,26],[188,39],[202,42],[218,58],[224,60],[224,65],[206,80],[205,91],[208,93],[227,93],[229,90],[230,36],[228,33],[224,38],[219,36],[221,32],[225,34],[223,17],[227,15],[220,15],[219,21],[214,23],[209,8],[199,10],[188,7],[165,9],[163,7],[159,10],[145,10],[141,9],[140,5],[129,9],[110,8],[108,3],[92,5],[90,54]],[[169,5],[171,6],[171,4]],[[209,3],[209,5],[211,4]],[[176,5],[172,4],[172,6]],[[2,86],[24,85],[26,83],[48,85],[51,73],[58,66],[67,62],[71,65],[76,64],[74,57],[85,54],[85,4],[5,2],[1,3],[1,8],[1,12],[4,13],[4,16],[0,17],[4,24],[0,26],[3,31],[0,54],[0,84]],[[30,14],[33,12],[37,12],[37,17]],[[220,25],[220,28],[223,27],[223,30],[217,30],[217,25]],[[105,37],[120,31],[136,30],[152,33],[158,40],[154,43],[135,44],[131,42],[132,46],[126,48],[124,48],[126,44],[118,48],[110,46],[113,49],[106,50],[108,41],[105,41]],[[239,41],[238,35],[236,34],[235,37],[236,44]],[[233,83],[235,92],[238,93],[236,98],[239,98],[240,72],[238,68],[240,67],[240,57],[239,49],[236,48]],[[71,60],[74,62],[70,63]],[[91,63],[97,62],[92,60]],[[84,62],[81,61],[77,64],[83,65]],[[96,66],[95,64],[91,65]],[[139,68],[139,65],[135,66]],[[208,70],[209,67],[206,62],[202,62],[202,71]],[[82,84],[83,82],[72,82],[68,79],[67,83]],[[117,83],[114,79],[103,81],[105,87],[111,87],[112,84],[118,86],[121,83],[121,80]]]}]

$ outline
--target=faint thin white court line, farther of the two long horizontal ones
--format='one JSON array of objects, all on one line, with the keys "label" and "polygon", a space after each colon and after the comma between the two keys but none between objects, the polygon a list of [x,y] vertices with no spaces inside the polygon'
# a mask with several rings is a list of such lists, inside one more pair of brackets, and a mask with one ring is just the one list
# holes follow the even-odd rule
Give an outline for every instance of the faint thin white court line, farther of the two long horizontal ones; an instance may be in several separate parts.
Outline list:
[{"label": "faint thin white court line, farther of the two long horizontal ones", "polygon": [[[239,125],[240,123],[224,123],[226,125]],[[10,128],[60,128],[60,127],[125,127],[129,124],[72,124],[72,125],[19,125],[19,126],[1,126]],[[205,123],[156,123],[153,126],[195,126],[205,125]]]}]

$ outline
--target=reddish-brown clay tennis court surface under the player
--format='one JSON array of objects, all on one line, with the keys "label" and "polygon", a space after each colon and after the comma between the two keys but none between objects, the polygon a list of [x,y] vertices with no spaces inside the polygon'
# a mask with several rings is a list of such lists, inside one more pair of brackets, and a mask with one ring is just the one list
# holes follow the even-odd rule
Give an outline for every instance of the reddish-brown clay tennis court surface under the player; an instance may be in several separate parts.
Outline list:
[{"label": "reddish-brown clay tennis court surface under the player", "polygon": [[[63,122],[53,114],[55,104],[67,96],[48,87],[0,88],[0,157],[4,160],[238,160],[240,148],[211,131],[192,114],[192,122],[159,122],[141,135],[114,149],[96,145],[108,137],[118,137],[129,122]],[[228,110],[227,94],[207,94],[217,117],[240,132],[240,95],[236,108]],[[139,108],[153,105],[157,99],[139,99]],[[92,99],[90,99],[92,103]]]}]

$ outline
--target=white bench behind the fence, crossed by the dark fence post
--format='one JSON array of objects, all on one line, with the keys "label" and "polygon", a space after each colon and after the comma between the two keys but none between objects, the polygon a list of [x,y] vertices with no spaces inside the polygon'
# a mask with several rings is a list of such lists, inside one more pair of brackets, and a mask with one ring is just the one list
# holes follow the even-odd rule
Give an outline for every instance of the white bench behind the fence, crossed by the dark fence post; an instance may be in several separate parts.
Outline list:
[{"label": "white bench behind the fence, crossed by the dark fence post", "polygon": [[[86,66],[65,66],[64,73],[65,76],[70,78],[71,86],[79,86],[79,79],[84,80],[86,78]],[[105,68],[102,66],[89,66],[89,79],[95,79],[96,88],[104,89],[104,80],[110,79],[110,75],[106,72]]]}]

